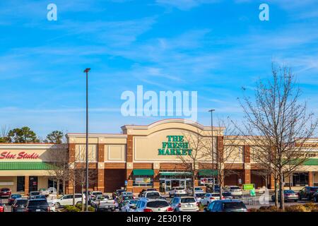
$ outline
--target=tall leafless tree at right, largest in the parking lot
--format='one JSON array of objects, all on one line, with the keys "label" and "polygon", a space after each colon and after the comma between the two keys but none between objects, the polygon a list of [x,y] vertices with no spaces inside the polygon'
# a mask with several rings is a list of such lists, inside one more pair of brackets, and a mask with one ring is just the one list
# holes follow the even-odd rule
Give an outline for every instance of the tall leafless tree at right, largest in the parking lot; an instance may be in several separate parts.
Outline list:
[{"label": "tall leafless tree at right, largest in the parking lot", "polygon": [[245,121],[238,127],[249,143],[260,147],[257,158],[269,161],[284,210],[284,174],[294,172],[307,160],[302,146],[314,135],[317,119],[307,113],[306,103],[300,103],[300,88],[291,69],[272,66],[272,75],[269,81],[257,83],[254,99],[245,95],[240,101]]}]

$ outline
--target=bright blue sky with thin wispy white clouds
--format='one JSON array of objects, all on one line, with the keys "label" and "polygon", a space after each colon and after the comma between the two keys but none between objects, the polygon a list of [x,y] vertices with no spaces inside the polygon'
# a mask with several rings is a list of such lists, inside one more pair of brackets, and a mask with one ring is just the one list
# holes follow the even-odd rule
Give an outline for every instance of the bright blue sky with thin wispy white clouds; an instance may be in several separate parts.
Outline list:
[{"label": "bright blue sky with thin wispy white clouds", "polygon": [[[57,21],[47,5],[57,5]],[[270,20],[259,20],[259,4]],[[302,99],[317,112],[317,1],[52,0],[0,2],[0,126],[85,131],[90,67],[90,132],[163,117],[123,117],[122,92],[198,91],[198,122],[242,117],[241,88],[293,67]]]}]

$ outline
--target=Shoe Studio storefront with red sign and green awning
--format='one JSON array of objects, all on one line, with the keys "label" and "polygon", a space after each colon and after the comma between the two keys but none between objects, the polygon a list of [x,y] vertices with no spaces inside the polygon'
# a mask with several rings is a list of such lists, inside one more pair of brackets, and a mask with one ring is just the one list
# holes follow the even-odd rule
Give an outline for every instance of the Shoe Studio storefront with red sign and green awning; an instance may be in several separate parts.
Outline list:
[{"label": "Shoe Studio storefront with red sign and green awning", "polygon": [[49,163],[52,148],[66,148],[66,145],[1,143],[0,188],[21,194],[47,189],[53,174]]}]

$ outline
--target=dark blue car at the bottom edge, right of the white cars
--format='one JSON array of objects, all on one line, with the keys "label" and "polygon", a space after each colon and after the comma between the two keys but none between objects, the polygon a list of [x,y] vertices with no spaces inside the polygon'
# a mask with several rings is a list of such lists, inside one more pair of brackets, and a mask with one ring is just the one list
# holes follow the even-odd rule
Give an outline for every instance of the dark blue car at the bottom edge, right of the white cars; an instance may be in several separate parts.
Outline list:
[{"label": "dark blue car at the bottom edge, right of the white cars", "polygon": [[247,212],[247,208],[242,201],[239,200],[217,200],[204,208],[206,212]]}]

